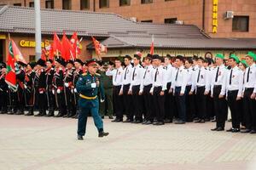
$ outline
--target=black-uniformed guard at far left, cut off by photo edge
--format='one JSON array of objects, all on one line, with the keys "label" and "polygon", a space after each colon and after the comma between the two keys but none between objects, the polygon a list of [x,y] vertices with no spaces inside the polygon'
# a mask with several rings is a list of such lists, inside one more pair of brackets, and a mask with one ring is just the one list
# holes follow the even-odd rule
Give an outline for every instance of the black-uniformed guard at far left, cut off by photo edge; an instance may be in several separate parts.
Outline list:
[{"label": "black-uniformed guard at far left, cut off by photo edge", "polygon": [[0,62],[0,113],[7,113],[8,84],[5,82],[6,64]]}]

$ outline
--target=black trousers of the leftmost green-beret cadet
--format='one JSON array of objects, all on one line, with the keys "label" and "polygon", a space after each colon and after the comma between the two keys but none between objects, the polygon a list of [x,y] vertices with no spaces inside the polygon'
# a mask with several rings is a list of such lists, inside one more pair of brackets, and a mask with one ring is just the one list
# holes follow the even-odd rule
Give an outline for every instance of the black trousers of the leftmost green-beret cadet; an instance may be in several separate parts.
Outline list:
[{"label": "black trousers of the leftmost green-beret cadet", "polygon": [[225,127],[225,121],[227,118],[226,101],[225,97],[219,99],[218,96],[221,91],[221,86],[215,86],[213,88],[213,103],[214,112],[216,113],[216,127]]}]

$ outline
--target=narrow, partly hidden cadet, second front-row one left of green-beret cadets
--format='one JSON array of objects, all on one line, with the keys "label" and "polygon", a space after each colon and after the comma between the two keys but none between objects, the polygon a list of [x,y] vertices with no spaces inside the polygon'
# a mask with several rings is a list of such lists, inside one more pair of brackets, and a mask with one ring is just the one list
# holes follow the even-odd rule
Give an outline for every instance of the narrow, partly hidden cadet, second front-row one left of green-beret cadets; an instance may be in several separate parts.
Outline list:
[{"label": "narrow, partly hidden cadet, second front-row one left of green-beret cadets", "polygon": [[193,60],[192,59],[186,59],[185,60],[185,68],[188,71],[188,82],[186,86],[186,122],[193,122],[193,116],[195,114],[195,96],[193,92],[191,91],[192,88],[192,77],[193,73]]}]

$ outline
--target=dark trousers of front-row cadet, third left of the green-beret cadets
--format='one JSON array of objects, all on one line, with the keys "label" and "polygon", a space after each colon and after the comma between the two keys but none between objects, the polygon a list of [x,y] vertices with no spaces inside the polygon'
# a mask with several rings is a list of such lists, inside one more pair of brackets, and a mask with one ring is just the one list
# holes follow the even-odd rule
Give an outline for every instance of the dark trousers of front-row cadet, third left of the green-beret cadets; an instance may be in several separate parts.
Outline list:
[{"label": "dark trousers of front-row cadet, third left of the green-beret cadets", "polygon": [[181,87],[175,87],[175,100],[177,104],[178,118],[185,122],[186,121],[186,93],[183,96],[180,95]]}]

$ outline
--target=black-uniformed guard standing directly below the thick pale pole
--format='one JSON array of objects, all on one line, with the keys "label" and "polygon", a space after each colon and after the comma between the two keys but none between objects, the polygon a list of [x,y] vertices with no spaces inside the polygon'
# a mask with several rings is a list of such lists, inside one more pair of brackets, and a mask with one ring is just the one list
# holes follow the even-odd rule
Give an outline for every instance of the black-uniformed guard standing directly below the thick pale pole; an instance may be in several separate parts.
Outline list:
[{"label": "black-uniformed guard standing directly below the thick pale pole", "polygon": [[45,60],[38,59],[36,71],[36,80],[38,81],[38,89],[36,95],[38,96],[38,110],[39,114],[35,116],[46,116],[47,97],[46,97],[46,75],[45,75]]}]

